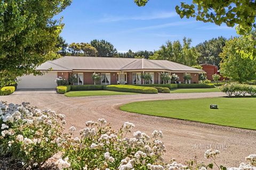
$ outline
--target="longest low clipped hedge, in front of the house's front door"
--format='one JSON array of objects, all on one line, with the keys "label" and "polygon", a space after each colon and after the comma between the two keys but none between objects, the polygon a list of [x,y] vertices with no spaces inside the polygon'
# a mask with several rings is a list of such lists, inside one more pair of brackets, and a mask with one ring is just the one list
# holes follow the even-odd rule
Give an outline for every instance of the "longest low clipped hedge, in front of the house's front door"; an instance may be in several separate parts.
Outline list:
[{"label": "longest low clipped hedge, in front of the house's front door", "polygon": [[153,87],[140,87],[132,85],[109,85],[105,87],[110,91],[122,91],[122,92],[138,92],[140,94],[157,94],[157,89]]}]

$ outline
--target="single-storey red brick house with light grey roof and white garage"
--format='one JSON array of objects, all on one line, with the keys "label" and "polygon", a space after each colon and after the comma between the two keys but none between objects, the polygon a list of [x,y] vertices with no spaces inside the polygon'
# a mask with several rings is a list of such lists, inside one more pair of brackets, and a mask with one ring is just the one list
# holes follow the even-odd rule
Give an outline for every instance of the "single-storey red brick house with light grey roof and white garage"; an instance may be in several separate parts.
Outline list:
[{"label": "single-storey red brick house with light grey roof and white garage", "polygon": [[[57,60],[47,61],[36,70],[51,71],[42,76],[25,75],[20,77],[18,88],[55,88],[55,79],[62,77],[68,79],[73,74],[77,78],[74,84],[93,84],[92,74],[100,73],[101,84],[142,84],[163,83],[160,78],[162,72],[178,74],[179,83],[183,83],[183,76],[191,75],[189,83],[198,83],[198,74],[205,73],[195,69],[166,60],[147,60],[137,58],[113,58],[113,57],[76,57],[65,56]],[[149,82],[143,82],[140,75],[151,75]]]}]

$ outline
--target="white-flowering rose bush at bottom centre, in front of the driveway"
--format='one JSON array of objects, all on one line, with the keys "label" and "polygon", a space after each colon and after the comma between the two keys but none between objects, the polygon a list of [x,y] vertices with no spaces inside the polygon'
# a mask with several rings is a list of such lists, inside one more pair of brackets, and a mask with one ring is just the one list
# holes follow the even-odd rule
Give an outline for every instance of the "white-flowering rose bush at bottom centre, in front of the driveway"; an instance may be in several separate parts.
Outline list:
[{"label": "white-flowering rose bush at bottom centre, in front of the driveway", "polygon": [[147,164],[163,160],[165,146],[158,139],[162,138],[161,131],[155,130],[151,138],[137,131],[128,138],[134,124],[125,122],[119,131],[106,124],[104,119],[88,121],[79,137],[73,136],[74,127],[69,129],[62,148],[71,169],[147,169]]}]

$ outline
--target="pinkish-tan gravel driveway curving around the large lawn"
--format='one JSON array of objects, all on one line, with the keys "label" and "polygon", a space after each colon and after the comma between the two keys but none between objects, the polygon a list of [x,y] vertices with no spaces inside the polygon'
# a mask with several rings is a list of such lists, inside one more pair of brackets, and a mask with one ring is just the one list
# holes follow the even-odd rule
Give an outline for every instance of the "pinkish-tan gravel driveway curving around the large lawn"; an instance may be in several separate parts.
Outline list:
[{"label": "pinkish-tan gravel driveway curving around the large lawn", "polygon": [[224,94],[221,92],[202,92],[194,94],[65,97],[55,94],[54,91],[42,90],[17,91],[10,96],[1,96],[0,100],[19,104],[22,101],[28,101],[31,106],[52,109],[65,114],[67,126],[74,125],[77,129],[84,128],[84,123],[88,120],[106,118],[116,130],[126,121],[135,124],[134,131],[140,130],[151,134],[155,129],[162,130],[164,133],[163,141],[167,149],[166,160],[174,157],[178,162],[184,163],[186,160],[198,156],[199,161],[207,163],[207,160],[204,159],[204,151],[212,146],[212,148],[221,151],[221,155],[217,159],[218,162],[226,166],[238,166],[240,162],[244,162],[245,156],[256,154],[256,131],[127,113],[118,109],[120,105],[132,101],[219,96],[224,96]]}]

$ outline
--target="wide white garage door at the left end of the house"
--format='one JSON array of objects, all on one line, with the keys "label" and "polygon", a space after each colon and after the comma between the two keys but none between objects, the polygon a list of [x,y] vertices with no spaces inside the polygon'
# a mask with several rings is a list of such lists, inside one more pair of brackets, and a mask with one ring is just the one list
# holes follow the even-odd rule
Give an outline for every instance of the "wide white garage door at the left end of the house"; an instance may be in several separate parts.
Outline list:
[{"label": "wide white garage door at the left end of the house", "polygon": [[20,77],[18,82],[18,89],[44,89],[44,88],[56,88],[57,84],[55,79],[57,78],[57,72],[48,72],[44,75],[34,76],[33,74]]}]

